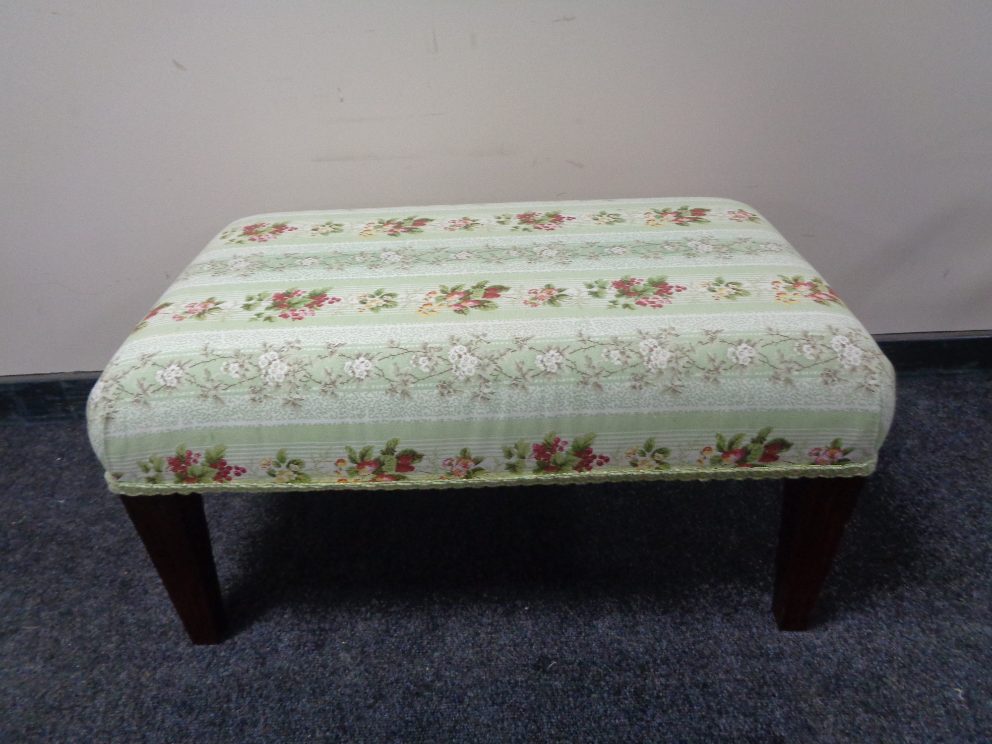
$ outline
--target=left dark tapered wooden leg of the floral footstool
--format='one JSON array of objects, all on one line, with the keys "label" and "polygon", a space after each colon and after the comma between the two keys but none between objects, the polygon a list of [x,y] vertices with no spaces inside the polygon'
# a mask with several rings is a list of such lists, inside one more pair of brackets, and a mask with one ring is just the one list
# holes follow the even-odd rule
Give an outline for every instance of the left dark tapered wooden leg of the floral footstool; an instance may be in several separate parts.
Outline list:
[{"label": "left dark tapered wooden leg of the floral footstool", "polygon": [[221,643],[226,619],[202,498],[194,493],[121,496],[121,501],[189,639],[196,645]]}]

